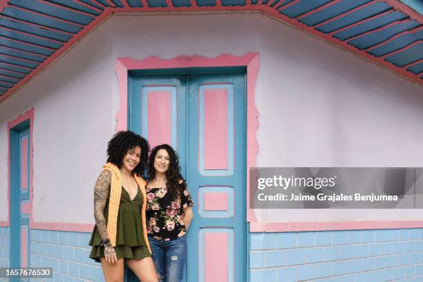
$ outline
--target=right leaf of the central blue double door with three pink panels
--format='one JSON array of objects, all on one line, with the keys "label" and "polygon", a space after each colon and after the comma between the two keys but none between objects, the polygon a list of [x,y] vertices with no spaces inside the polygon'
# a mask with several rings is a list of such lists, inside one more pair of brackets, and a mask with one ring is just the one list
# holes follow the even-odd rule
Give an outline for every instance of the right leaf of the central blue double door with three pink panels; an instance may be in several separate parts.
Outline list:
[{"label": "right leaf of the central blue double door with three pink panels", "polygon": [[245,75],[191,75],[188,281],[245,281]]}]

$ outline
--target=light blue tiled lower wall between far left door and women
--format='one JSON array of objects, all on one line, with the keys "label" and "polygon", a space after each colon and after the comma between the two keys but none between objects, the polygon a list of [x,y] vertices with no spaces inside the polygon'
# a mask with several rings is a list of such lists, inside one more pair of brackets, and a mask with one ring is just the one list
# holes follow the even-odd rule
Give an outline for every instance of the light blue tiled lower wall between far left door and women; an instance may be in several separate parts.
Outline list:
[{"label": "light blue tiled lower wall between far left door and women", "polygon": [[88,256],[91,234],[30,230],[30,265],[53,267],[53,279],[46,281],[104,281],[100,263]]}]

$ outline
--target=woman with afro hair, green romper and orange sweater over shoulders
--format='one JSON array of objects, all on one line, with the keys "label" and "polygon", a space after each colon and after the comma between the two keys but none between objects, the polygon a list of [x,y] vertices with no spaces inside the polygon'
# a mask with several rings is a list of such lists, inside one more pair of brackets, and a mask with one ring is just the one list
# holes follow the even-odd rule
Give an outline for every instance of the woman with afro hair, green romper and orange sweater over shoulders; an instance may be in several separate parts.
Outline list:
[{"label": "woman with afro hair, green romper and orange sweater over shoulders", "polygon": [[142,282],[157,282],[147,239],[146,182],[149,143],[132,131],[109,141],[107,163],[94,188],[95,227],[90,258],[102,263],[106,281],[124,281],[124,263]]}]

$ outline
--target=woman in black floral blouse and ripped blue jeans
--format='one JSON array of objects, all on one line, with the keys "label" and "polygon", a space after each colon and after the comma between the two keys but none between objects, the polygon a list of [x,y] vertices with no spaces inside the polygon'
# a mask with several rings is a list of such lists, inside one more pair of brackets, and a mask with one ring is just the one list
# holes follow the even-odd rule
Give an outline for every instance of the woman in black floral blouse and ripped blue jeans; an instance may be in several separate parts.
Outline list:
[{"label": "woman in black floral blouse and ripped blue jeans", "polygon": [[168,144],[151,151],[148,170],[147,234],[154,265],[160,282],[180,282],[187,261],[185,234],[194,202],[180,175],[178,156]]}]

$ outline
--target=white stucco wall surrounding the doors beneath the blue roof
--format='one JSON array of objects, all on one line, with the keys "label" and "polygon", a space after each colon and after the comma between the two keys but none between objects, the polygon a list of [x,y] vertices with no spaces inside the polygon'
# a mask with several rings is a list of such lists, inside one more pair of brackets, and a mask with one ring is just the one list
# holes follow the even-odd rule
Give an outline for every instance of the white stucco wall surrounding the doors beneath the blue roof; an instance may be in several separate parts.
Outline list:
[{"label": "white stucco wall surrounding the doors beneath the blue roof", "polygon": [[[229,14],[118,15],[103,23],[0,104],[0,167],[7,164],[6,123],[34,106],[34,220],[93,223],[93,184],[119,106],[115,58],[248,52],[260,53],[257,166],[423,166],[420,86],[269,17]],[[0,195],[3,220],[5,169]],[[404,210],[260,210],[256,216],[422,219]]]}]

